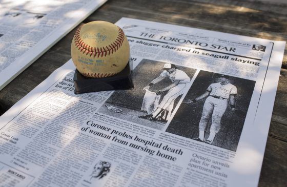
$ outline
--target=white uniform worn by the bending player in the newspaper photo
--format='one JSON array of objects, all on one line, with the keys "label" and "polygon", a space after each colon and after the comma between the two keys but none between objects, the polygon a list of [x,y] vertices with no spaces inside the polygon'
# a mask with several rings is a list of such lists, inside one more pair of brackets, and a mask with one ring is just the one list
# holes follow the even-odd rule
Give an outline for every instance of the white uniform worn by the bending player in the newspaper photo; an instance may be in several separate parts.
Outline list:
[{"label": "white uniform worn by the bending player in the newspaper photo", "polygon": [[169,105],[173,104],[173,101],[181,94],[185,92],[187,84],[190,82],[190,77],[183,71],[176,69],[174,72],[169,73],[163,71],[160,74],[161,77],[168,77],[172,82],[179,80],[177,86],[171,88],[169,92],[163,96],[158,108],[166,110]]}]

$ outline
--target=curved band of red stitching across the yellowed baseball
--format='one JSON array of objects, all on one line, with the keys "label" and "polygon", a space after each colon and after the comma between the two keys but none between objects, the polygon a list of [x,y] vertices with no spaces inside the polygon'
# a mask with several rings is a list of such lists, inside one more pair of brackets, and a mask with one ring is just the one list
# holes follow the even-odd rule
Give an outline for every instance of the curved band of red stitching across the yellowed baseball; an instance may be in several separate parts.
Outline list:
[{"label": "curved band of red stitching across the yellowed baseball", "polygon": [[124,43],[124,40],[125,40],[124,31],[122,31],[122,29],[118,27],[118,36],[116,37],[115,41],[113,41],[112,44],[110,44],[109,46],[103,47],[104,50],[102,49],[102,47],[100,47],[100,49],[96,48],[96,47],[94,47],[94,48],[90,47],[87,44],[85,44],[83,39],[81,39],[81,37],[80,37],[81,27],[82,26],[80,26],[77,29],[75,36],[74,36],[74,40],[75,40],[76,48],[78,50],[80,50],[80,52],[83,51],[83,54],[85,54],[85,52],[88,51],[87,55],[91,52],[90,56],[92,56],[93,53],[95,53],[94,57],[95,56],[98,56],[98,57],[99,56],[101,56],[101,57],[107,56],[107,55],[110,55],[110,54],[113,54],[114,52],[116,52]]}]

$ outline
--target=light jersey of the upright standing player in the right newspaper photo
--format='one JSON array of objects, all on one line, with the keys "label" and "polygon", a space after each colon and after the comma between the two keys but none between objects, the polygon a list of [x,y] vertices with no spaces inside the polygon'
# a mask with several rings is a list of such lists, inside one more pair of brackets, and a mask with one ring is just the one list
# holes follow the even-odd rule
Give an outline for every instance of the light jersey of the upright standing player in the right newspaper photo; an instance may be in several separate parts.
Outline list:
[{"label": "light jersey of the upright standing player in the right newspaper photo", "polygon": [[230,94],[237,94],[237,88],[232,84],[221,85],[220,82],[211,84],[207,91],[210,91],[210,95],[229,99]]}]

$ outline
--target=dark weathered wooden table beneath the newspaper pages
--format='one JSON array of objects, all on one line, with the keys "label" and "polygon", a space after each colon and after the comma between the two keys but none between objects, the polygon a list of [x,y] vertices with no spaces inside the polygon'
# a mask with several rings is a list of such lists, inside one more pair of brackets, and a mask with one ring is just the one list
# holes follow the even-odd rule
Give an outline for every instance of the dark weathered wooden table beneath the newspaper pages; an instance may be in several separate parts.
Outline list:
[{"label": "dark weathered wooden table beneath the newspaper pages", "polygon": [[[109,0],[83,23],[93,20],[115,23],[121,17],[130,17],[286,41],[287,2],[272,2],[272,0],[270,2],[256,0]],[[0,91],[0,115],[71,58],[70,44],[74,33],[75,29]],[[260,175],[260,187],[287,186],[286,69],[287,54],[285,51]]]}]

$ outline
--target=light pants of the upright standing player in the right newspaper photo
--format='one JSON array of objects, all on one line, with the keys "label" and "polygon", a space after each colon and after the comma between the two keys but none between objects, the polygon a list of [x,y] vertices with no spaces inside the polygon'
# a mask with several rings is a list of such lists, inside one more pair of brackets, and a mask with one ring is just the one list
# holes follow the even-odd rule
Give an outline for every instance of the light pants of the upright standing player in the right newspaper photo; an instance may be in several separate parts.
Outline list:
[{"label": "light pants of the upright standing player in the right newspaper photo", "polygon": [[205,131],[211,117],[210,131],[218,133],[220,130],[221,117],[226,111],[228,99],[218,99],[209,96],[203,105],[203,111],[199,122],[199,131]]}]

